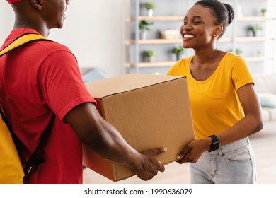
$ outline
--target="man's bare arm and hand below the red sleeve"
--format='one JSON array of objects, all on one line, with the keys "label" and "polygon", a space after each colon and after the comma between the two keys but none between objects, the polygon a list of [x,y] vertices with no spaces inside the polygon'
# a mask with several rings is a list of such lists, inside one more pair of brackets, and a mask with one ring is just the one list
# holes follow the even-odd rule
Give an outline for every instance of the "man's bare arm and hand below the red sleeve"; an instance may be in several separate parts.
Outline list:
[{"label": "man's bare arm and hand below the red sleeve", "polygon": [[103,158],[131,168],[142,180],[150,180],[158,171],[165,170],[155,156],[163,153],[166,148],[137,152],[127,144],[113,125],[103,120],[93,103],[74,107],[64,117],[64,122],[70,124],[83,144]]}]

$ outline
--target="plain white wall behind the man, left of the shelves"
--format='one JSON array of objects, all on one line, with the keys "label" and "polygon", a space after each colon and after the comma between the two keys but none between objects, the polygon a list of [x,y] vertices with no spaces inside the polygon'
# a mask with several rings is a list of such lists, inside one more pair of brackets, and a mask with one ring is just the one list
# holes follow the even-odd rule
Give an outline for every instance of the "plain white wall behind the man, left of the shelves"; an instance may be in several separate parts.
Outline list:
[{"label": "plain white wall behind the man, left of the shelves", "polygon": [[[65,0],[64,0],[65,1]],[[80,67],[99,67],[108,76],[123,74],[124,0],[73,0],[60,30],[50,38],[75,54]],[[0,43],[13,28],[13,11],[0,1]]]}]

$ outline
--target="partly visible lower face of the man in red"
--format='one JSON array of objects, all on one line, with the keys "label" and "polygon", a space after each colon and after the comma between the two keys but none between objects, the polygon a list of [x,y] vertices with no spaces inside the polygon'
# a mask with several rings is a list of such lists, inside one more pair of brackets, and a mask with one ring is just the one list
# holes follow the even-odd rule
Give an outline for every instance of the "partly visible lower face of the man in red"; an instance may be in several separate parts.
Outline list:
[{"label": "partly visible lower face of the man in red", "polygon": [[45,0],[43,1],[42,16],[47,23],[47,28],[62,28],[66,18],[69,0]]}]

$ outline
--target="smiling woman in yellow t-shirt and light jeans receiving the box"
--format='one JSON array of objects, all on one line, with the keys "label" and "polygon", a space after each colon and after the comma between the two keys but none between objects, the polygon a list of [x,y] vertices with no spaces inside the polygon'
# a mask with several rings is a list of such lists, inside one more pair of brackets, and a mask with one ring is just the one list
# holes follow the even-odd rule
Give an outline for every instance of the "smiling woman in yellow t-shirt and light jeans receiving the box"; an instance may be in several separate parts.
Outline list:
[{"label": "smiling woman in yellow t-shirt and light jeans receiving the box", "polygon": [[253,78],[244,59],[217,49],[234,19],[219,0],[197,1],[180,34],[195,55],[176,62],[167,75],[187,76],[196,140],[178,155],[190,164],[192,183],[255,183],[255,157],[248,136],[263,128]]}]

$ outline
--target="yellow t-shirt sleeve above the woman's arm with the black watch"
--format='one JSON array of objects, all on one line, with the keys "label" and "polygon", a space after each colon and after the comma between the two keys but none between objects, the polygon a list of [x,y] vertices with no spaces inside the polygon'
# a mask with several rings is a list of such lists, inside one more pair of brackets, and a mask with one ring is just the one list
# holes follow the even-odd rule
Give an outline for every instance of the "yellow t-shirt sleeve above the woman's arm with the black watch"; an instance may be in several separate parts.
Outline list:
[{"label": "yellow t-shirt sleeve above the woman's arm with the black watch", "polygon": [[231,78],[237,90],[248,83],[254,83],[248,65],[243,57],[234,57],[232,65]]}]

